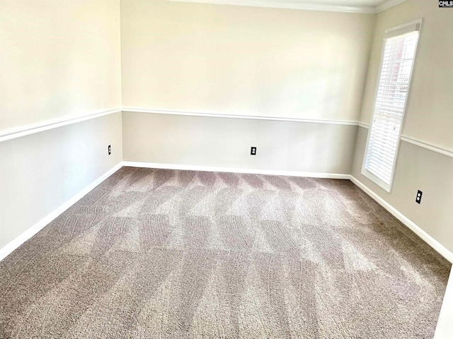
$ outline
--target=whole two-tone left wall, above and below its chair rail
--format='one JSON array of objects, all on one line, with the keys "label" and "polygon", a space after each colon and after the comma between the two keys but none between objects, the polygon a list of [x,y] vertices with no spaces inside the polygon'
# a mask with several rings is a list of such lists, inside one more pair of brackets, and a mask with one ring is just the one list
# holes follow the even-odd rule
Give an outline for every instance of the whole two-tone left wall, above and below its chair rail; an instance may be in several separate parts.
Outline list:
[{"label": "whole two-tone left wall, above and below its chair rail", "polygon": [[[1,0],[0,41],[0,135],[121,107],[119,0]],[[1,249],[121,162],[122,113],[1,142],[0,160]]]}]

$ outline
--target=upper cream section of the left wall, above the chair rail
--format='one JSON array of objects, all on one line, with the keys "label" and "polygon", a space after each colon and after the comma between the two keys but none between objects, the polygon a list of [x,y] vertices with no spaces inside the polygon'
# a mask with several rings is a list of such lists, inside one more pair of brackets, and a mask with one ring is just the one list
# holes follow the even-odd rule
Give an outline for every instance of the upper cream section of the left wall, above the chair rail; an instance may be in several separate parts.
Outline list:
[{"label": "upper cream section of the left wall, above the chair rail", "polygon": [[0,132],[121,107],[119,0],[1,0],[0,42]]}]

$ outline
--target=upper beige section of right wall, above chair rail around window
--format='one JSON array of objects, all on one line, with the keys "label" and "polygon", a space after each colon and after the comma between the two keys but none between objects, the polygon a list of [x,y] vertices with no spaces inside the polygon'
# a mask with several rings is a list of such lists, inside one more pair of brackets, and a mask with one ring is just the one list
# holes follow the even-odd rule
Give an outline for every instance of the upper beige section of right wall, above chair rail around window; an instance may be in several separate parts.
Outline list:
[{"label": "upper beige section of right wall, above chair rail around window", "polygon": [[407,0],[377,15],[360,121],[369,124],[384,31],[423,18],[403,135],[453,149],[453,15],[437,1]]}]

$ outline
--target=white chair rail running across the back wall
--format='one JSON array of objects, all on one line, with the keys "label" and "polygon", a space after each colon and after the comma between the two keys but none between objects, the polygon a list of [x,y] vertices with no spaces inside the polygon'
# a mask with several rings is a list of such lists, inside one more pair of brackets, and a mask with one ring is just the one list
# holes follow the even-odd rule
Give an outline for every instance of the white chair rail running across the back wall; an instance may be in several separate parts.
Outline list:
[{"label": "white chair rail running across the back wall", "polygon": [[[173,0],[171,0],[171,1],[173,1]],[[262,116],[255,116],[255,115],[218,114],[218,113],[207,113],[207,112],[176,111],[176,110],[171,110],[171,109],[153,109],[153,108],[139,108],[139,107],[123,107],[122,111],[123,112],[132,112],[132,113],[187,115],[187,116],[190,116],[190,117],[212,117],[212,118],[227,118],[227,119],[289,121],[289,122],[305,122],[305,123],[311,123],[311,124],[335,124],[335,125],[357,126],[357,121],[346,121],[346,120],[323,120],[323,119],[297,119],[297,118],[284,118],[284,117],[262,117]]]}]

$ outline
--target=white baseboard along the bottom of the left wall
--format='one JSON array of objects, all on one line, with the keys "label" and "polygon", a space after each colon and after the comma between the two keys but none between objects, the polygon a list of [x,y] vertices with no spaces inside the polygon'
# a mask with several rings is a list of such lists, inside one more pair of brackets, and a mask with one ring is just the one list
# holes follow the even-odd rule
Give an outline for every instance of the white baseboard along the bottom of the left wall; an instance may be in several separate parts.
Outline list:
[{"label": "white baseboard along the bottom of the left wall", "polygon": [[94,189],[98,184],[101,184],[105,179],[110,177],[113,173],[115,173],[118,169],[122,167],[122,162],[119,164],[115,165],[112,169],[109,169],[107,172],[105,172],[101,177],[98,177],[94,182],[86,186],[84,189],[82,189],[78,194],[70,198],[67,202],[63,203],[62,206],[59,206],[56,210],[51,212],[50,214],[46,215],[44,218],[42,218],[40,221],[36,222],[35,225],[30,227],[28,230],[23,232],[21,235],[16,237],[12,242],[9,242],[4,246],[3,248],[0,249],[0,261],[6,258],[9,254],[11,254],[12,251],[17,249],[21,244],[26,242],[28,239],[33,237],[36,233],[40,232],[45,226],[47,226],[52,220],[57,218],[60,214],[62,214],[65,210],[70,208],[71,206],[74,205],[77,201],[79,201],[81,198],[83,198],[86,194],[88,194],[92,189]]}]

